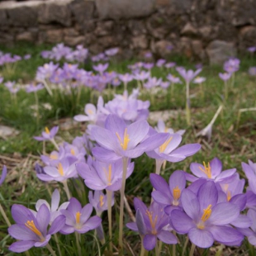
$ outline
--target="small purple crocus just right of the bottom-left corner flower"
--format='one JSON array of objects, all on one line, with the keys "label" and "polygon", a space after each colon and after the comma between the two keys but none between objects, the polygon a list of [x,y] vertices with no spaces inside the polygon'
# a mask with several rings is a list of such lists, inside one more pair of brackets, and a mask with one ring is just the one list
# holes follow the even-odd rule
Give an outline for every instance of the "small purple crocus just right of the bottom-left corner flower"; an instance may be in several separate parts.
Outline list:
[{"label": "small purple crocus just right of the bottom-left corner flower", "polygon": [[66,216],[66,222],[60,233],[68,235],[76,231],[84,234],[89,230],[95,230],[101,225],[102,219],[98,216],[90,217],[92,209],[91,204],[87,204],[82,208],[80,202],[76,198],[71,197],[67,210],[61,210],[61,213]]}]

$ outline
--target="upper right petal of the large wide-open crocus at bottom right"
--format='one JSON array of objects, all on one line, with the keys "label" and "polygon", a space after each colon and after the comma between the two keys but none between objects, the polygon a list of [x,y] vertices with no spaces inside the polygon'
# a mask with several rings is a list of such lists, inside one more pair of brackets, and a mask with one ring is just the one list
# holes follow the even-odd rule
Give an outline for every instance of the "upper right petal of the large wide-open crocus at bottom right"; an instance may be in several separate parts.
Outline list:
[{"label": "upper right petal of the large wide-open crocus at bottom right", "polygon": [[226,225],[239,216],[239,206],[230,202],[220,202],[212,207],[211,216],[208,219],[211,225]]}]

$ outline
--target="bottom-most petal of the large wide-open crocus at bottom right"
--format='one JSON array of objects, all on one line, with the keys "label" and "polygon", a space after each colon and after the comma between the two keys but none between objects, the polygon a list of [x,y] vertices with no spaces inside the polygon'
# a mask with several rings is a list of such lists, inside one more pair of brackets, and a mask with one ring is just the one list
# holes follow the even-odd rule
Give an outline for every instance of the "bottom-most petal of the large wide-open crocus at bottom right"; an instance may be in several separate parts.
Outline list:
[{"label": "bottom-most petal of the large wide-open crocus at bottom right", "polygon": [[214,242],[211,232],[207,230],[199,230],[197,228],[192,228],[191,230],[189,230],[188,237],[193,244],[196,244],[198,247],[201,248],[211,247]]}]

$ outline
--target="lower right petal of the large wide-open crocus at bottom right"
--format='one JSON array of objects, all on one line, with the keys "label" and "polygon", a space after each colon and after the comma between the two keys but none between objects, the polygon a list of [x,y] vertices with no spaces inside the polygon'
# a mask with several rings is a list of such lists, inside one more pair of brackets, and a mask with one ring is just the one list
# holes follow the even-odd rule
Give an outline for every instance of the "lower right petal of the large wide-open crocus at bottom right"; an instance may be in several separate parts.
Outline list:
[{"label": "lower right petal of the large wide-open crocus at bottom right", "polygon": [[216,239],[220,244],[239,245],[244,239],[244,235],[242,235],[238,230],[228,226],[213,225],[211,226],[210,232],[214,239]]}]

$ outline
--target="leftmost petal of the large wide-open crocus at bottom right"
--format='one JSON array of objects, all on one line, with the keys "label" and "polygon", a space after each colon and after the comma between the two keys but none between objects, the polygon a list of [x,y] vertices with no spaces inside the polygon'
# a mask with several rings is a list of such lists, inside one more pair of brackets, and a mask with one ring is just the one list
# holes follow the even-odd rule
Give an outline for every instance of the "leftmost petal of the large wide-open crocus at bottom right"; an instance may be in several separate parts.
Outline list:
[{"label": "leftmost petal of the large wide-open crocus at bottom right", "polygon": [[195,227],[195,222],[183,211],[173,210],[170,216],[170,224],[179,234],[187,234]]}]

